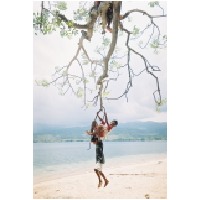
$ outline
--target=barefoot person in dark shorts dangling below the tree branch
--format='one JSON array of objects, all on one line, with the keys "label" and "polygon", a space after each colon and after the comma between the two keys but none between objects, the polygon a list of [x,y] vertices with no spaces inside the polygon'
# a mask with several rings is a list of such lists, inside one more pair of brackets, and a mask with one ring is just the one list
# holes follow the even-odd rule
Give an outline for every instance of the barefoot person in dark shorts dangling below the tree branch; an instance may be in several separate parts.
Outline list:
[{"label": "barefoot person in dark shorts dangling below the tree branch", "polygon": [[102,186],[102,179],[104,180],[104,187],[108,185],[109,181],[105,177],[102,168],[103,164],[105,164],[104,153],[103,153],[103,139],[105,136],[112,130],[113,127],[118,125],[118,121],[113,120],[111,123],[108,123],[107,113],[104,112],[105,121],[99,117],[99,112],[97,113],[97,117],[99,118],[100,124],[94,120],[92,122],[91,131],[87,131],[86,133],[92,135],[92,142],[96,144],[96,163],[98,165],[97,169],[94,171],[97,174],[99,184],[98,187]]}]

